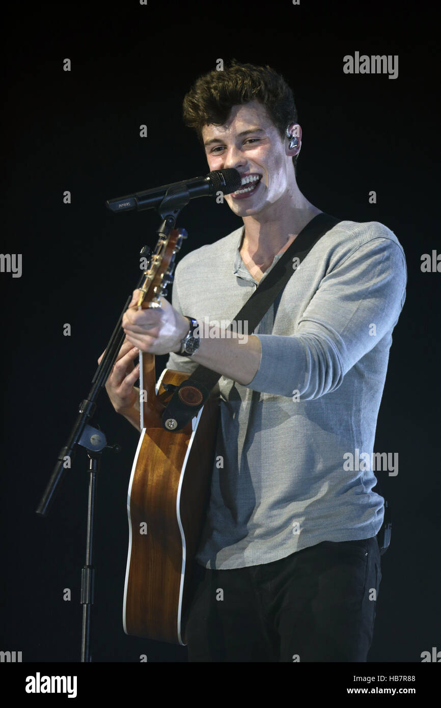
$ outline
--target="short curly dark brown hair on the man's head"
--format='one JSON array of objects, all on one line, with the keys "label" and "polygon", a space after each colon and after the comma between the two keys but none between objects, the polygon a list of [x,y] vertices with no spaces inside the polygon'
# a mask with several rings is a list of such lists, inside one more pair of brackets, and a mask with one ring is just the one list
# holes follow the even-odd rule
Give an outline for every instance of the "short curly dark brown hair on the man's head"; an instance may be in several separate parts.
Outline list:
[{"label": "short curly dark brown hair on the man's head", "polygon": [[[250,101],[265,106],[282,139],[288,125],[297,123],[294,96],[283,76],[271,67],[240,64],[236,59],[222,71],[213,69],[195,81],[183,100],[183,120],[196,130],[203,147],[204,125],[224,125],[234,105]],[[295,171],[297,155],[292,161]]]}]

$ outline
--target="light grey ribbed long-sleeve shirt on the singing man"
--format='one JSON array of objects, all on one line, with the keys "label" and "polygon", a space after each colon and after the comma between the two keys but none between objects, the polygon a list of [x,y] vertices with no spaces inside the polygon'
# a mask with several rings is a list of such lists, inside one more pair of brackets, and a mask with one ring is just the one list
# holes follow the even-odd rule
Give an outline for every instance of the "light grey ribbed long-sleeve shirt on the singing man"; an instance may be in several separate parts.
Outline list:
[{"label": "light grey ribbed long-sleeve shirt on the singing man", "polygon": [[[178,312],[217,326],[236,316],[258,287],[239,253],[243,234],[240,227],[178,263]],[[198,563],[241,568],[321,541],[377,534],[384,500],[372,492],[374,472],[389,464],[372,455],[374,436],[405,297],[403,249],[384,224],[340,222],[311,249],[255,330],[262,346],[256,376],[247,386],[219,381],[221,422]],[[167,363],[188,372],[196,366],[173,353]],[[394,453],[381,452],[389,461]]]}]

